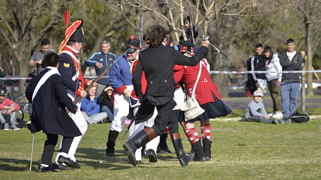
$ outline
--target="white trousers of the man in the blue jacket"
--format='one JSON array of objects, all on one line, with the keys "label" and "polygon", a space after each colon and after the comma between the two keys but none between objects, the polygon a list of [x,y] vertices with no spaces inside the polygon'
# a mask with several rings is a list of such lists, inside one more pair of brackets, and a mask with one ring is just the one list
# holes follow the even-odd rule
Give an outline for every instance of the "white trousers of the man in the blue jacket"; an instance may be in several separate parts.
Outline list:
[{"label": "white trousers of the man in the blue jacket", "polygon": [[129,98],[122,94],[114,95],[114,120],[111,122],[109,129],[121,132],[124,128],[124,123],[129,114]]}]

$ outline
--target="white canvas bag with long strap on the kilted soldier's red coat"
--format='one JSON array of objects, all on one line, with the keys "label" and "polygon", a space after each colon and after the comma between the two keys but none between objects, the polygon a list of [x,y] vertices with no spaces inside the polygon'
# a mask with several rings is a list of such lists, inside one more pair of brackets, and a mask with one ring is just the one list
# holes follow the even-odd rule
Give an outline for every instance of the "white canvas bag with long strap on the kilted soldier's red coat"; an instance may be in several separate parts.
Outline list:
[{"label": "white canvas bag with long strap on the kilted soldier's red coat", "polygon": [[[195,88],[197,85],[197,82],[201,76],[201,70],[202,70],[202,63],[200,63],[200,70],[198,71],[197,79],[195,81],[195,85],[193,87],[193,92],[191,98],[187,95],[187,101],[185,101],[184,105],[182,106],[182,109],[185,114],[185,120],[191,120],[196,118],[197,116],[201,115],[205,110],[200,107],[198,104],[195,96]],[[189,99],[188,99],[189,98]]]}]

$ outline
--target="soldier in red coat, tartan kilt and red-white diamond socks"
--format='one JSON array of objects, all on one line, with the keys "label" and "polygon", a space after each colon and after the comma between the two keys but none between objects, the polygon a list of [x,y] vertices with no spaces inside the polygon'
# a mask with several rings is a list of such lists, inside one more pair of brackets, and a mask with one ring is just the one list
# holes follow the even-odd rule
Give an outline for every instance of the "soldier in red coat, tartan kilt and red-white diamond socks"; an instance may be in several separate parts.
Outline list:
[{"label": "soldier in red coat, tartan kilt and red-white diamond socks", "polygon": [[[179,44],[181,45],[180,52],[182,54],[188,57],[195,55],[193,53],[193,47],[195,46],[193,43],[180,41]],[[231,110],[221,101],[217,86],[210,79],[210,65],[206,59],[202,59],[196,66],[184,67],[181,81],[185,84],[188,96],[192,96],[193,88],[197,80],[196,75],[199,73],[200,68],[200,77],[194,91],[197,102],[205,112],[195,119],[185,121],[184,126],[186,128],[185,133],[187,138],[192,143],[192,146],[194,146],[196,152],[194,160],[206,161],[211,159],[212,128],[210,118],[226,116],[231,113]],[[195,128],[195,121],[200,121],[201,124],[203,147]]]}]

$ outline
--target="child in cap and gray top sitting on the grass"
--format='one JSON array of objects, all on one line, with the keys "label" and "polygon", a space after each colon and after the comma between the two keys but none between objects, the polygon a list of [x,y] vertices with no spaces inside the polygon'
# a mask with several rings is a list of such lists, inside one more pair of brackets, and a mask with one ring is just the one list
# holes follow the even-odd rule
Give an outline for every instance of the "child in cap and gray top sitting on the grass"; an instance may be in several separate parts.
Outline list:
[{"label": "child in cap and gray top sitting on the grass", "polygon": [[263,122],[267,124],[291,123],[291,119],[279,121],[278,119],[269,116],[265,111],[263,102],[261,101],[262,96],[263,94],[259,90],[256,90],[253,93],[253,100],[247,104],[245,111],[245,120],[247,122]]}]

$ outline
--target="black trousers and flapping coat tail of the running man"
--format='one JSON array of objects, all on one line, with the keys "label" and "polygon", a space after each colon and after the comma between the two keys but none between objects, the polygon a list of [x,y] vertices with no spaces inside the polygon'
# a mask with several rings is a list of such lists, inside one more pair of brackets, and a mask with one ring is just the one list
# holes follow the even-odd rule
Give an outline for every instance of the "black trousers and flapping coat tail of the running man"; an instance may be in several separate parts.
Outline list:
[{"label": "black trousers and flapping coat tail of the running man", "polygon": [[[178,120],[176,119],[174,112],[174,100],[170,100],[168,103],[156,106],[158,115],[154,120],[154,126],[152,127],[155,131],[155,137],[161,135],[166,126],[169,127],[169,133],[178,133]],[[137,118],[135,119],[136,124],[139,122],[144,122],[152,117],[154,113],[155,106],[151,104],[141,104],[139,110],[137,111]]]}]

